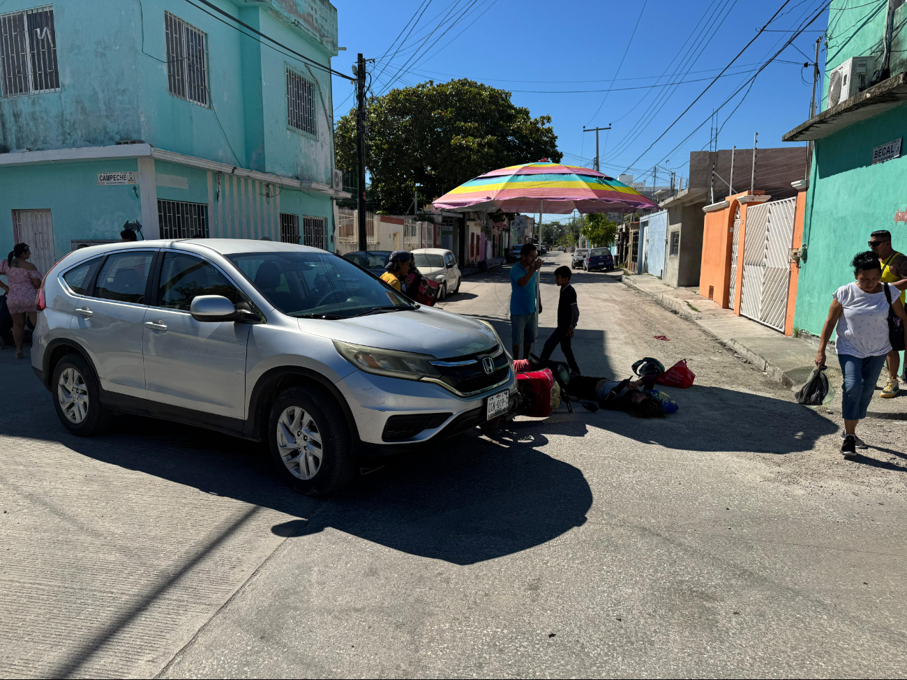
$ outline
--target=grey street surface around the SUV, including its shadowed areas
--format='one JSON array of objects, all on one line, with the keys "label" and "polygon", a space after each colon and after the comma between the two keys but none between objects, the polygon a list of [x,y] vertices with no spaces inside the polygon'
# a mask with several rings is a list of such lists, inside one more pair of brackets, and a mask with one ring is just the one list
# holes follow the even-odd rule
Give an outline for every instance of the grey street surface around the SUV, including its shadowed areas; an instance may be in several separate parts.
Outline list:
[{"label": "grey street surface around the SUV, including its shadowed areas", "polygon": [[[0,352],[0,672],[907,675],[905,423],[867,421],[844,461],[832,416],[613,278],[574,282],[583,373],[687,358],[678,413],[476,430],[323,502],[216,433],[71,437]],[[508,270],[462,291],[444,306],[509,343]]]}]

